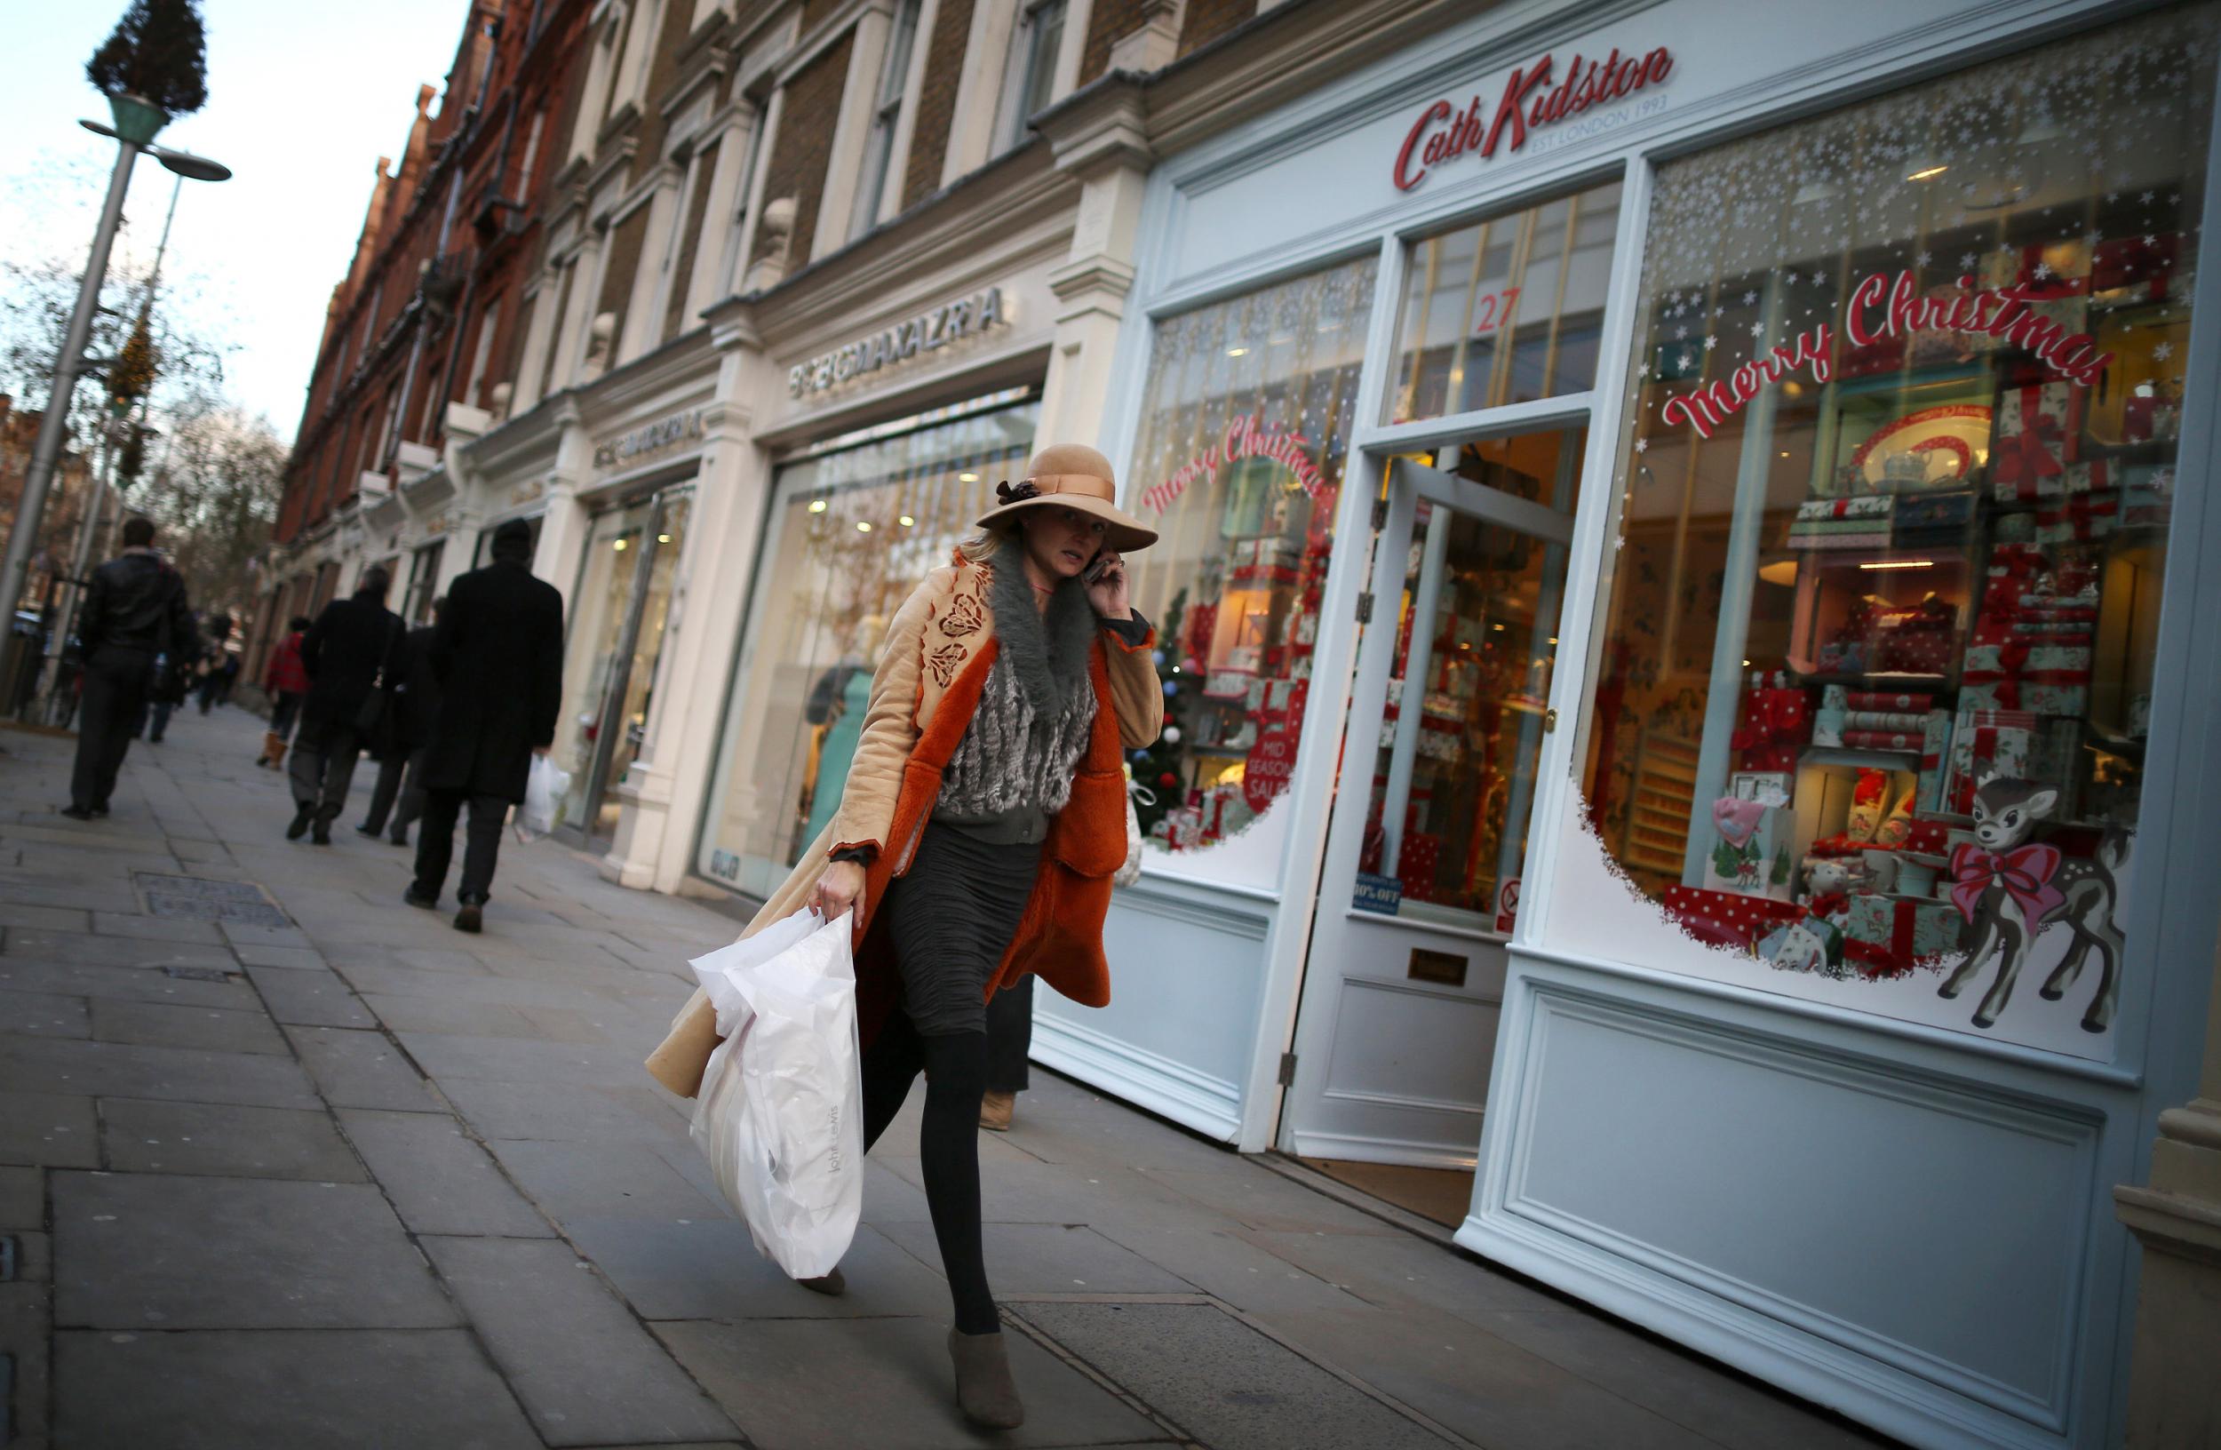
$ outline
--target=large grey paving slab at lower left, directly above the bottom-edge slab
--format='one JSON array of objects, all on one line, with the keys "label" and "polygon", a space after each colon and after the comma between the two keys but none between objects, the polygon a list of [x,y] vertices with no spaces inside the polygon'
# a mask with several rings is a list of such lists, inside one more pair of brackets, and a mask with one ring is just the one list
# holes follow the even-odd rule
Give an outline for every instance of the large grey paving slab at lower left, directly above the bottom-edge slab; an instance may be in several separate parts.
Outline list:
[{"label": "large grey paving slab at lower left, directly above the bottom-edge slab", "polygon": [[460,1323],[369,1184],[58,1172],[49,1188],[58,1326]]}]

